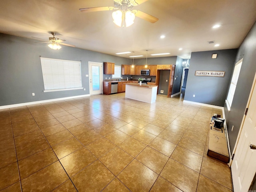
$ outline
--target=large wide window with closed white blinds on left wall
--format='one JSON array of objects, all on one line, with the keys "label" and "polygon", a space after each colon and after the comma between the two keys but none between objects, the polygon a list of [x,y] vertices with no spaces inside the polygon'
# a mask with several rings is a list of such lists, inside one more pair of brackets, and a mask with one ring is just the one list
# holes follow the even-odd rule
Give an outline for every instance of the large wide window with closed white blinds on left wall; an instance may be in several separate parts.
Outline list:
[{"label": "large wide window with closed white blinds on left wall", "polygon": [[82,89],[81,62],[42,58],[44,92]]}]

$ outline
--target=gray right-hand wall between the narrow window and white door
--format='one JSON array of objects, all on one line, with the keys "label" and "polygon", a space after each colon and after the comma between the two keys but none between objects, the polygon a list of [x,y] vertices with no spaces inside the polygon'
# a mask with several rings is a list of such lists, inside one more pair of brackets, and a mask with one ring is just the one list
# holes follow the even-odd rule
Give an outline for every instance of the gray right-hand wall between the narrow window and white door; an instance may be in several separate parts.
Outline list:
[{"label": "gray right-hand wall between the narrow window and white door", "polygon": [[[231,152],[234,150],[234,145],[236,143],[236,138],[238,136],[256,72],[256,23],[254,23],[250,32],[240,45],[236,55],[236,62],[242,58],[243,63],[236,84],[236,91],[230,112],[228,112],[226,104],[224,105]],[[234,128],[232,131],[231,129],[233,125]]]}]

